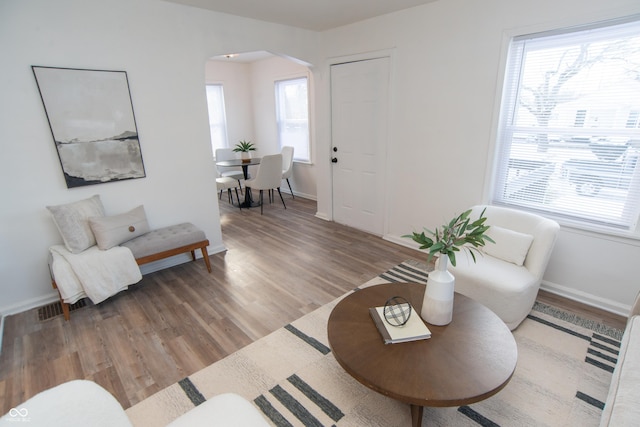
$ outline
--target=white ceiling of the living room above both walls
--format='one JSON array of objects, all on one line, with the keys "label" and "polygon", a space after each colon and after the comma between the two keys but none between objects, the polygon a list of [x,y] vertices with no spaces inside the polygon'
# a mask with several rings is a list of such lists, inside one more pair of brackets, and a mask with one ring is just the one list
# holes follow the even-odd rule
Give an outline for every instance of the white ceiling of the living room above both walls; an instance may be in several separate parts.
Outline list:
[{"label": "white ceiling of the living room above both walls", "polygon": [[324,31],[437,0],[167,0],[313,31]]}]

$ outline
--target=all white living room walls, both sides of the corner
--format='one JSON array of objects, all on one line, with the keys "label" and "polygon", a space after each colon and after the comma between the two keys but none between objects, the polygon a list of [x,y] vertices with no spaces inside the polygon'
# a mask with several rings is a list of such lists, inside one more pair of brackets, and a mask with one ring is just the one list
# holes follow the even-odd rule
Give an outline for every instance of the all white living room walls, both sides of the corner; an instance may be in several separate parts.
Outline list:
[{"label": "all white living room walls, both sides of the corner", "polygon": [[[207,58],[267,50],[313,65],[317,215],[331,218],[328,64],[391,51],[387,238],[406,244],[399,236],[485,200],[506,35],[631,13],[637,0],[443,0],[318,34],[157,0],[1,0],[0,313],[54,297],[47,204],[99,193],[108,213],[144,204],[152,226],[189,220],[223,247]],[[67,189],[30,65],[127,71],[147,177]],[[565,228],[545,286],[623,310],[639,255],[635,240]]]}]

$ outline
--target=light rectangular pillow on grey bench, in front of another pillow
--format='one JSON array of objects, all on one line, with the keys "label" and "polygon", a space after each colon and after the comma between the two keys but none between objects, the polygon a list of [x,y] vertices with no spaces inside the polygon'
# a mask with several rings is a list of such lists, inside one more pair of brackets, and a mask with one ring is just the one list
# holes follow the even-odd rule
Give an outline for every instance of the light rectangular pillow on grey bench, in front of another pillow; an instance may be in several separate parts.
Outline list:
[{"label": "light rectangular pillow on grey bench, in front of another pillow", "polygon": [[147,215],[142,205],[120,215],[89,218],[89,224],[96,236],[98,248],[103,251],[149,232]]}]

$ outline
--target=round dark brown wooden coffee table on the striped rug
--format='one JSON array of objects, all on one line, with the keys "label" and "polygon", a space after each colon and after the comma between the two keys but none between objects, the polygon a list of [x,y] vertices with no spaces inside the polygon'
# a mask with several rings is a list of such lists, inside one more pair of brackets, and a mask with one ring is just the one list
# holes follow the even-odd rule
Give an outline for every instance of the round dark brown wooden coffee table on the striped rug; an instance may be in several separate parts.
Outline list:
[{"label": "round dark brown wooden coffee table on the striped rug", "polygon": [[431,338],[385,345],[369,315],[392,296],[420,315],[425,285],[390,283],[345,297],[331,312],[329,344],[340,365],[363,385],[411,405],[414,426],[425,406],[461,406],[484,400],[507,385],[518,349],[511,331],[480,303],[455,294],[453,321],[427,324]]}]

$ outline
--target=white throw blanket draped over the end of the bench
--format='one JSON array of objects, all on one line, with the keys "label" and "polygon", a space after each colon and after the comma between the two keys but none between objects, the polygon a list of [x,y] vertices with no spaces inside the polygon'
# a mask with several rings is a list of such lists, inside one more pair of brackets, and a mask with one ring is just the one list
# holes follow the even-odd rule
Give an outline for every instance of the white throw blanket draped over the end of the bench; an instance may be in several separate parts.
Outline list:
[{"label": "white throw blanket draped over the end of the bench", "polygon": [[97,246],[72,254],[64,246],[49,248],[51,269],[64,302],[73,304],[85,295],[98,304],[142,280],[140,267],[129,248],[102,251]]}]

